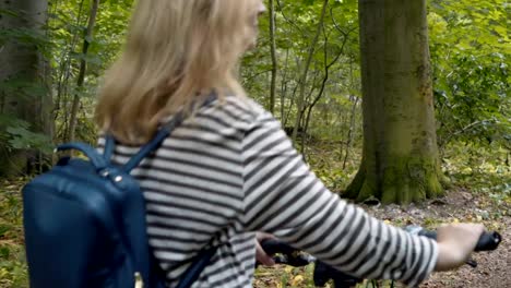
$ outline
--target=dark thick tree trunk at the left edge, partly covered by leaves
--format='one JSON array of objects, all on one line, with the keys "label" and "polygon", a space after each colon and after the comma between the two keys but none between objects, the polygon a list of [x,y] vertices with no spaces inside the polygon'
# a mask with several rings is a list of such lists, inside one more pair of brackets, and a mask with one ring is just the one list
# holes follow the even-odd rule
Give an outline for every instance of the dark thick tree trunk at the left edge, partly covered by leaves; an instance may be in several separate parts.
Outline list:
[{"label": "dark thick tree trunk at the left edge, partly covered by leaves", "polygon": [[[47,0],[0,1],[0,11],[9,11],[0,13],[0,29],[24,29],[34,36],[29,40],[21,37],[0,43],[0,113],[26,121],[32,132],[51,136],[49,65],[40,50],[47,9]],[[7,129],[4,124],[0,123],[0,129]],[[40,158],[40,153],[12,151],[7,143],[0,143],[0,177],[26,172],[34,158]]]}]

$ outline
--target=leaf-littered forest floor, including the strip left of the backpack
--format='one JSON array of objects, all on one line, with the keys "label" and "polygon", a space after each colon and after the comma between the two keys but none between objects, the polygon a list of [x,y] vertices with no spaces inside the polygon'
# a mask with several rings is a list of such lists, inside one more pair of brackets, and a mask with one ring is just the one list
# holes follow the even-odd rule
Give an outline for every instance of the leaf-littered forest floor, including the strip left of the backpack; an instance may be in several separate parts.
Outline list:
[{"label": "leaf-littered forest floor, including the strip left of the backpack", "polygon": [[[361,205],[369,214],[399,227],[420,225],[433,229],[442,223],[477,221],[484,223],[489,230],[497,230],[503,242],[497,251],[474,255],[478,263],[476,268],[463,266],[455,272],[433,274],[420,287],[428,288],[509,288],[511,287],[511,178],[498,175],[491,183],[499,182],[500,192],[494,190],[477,192],[457,185],[451,188],[444,197],[428,201],[419,205]],[[470,178],[467,183],[474,183]],[[503,182],[502,182],[503,181]],[[17,181],[0,180],[0,288],[28,287],[26,263],[23,249],[22,201],[20,189],[26,179]],[[478,181],[480,182],[480,181]],[[485,184],[486,187],[492,185]],[[311,288],[312,265],[301,268],[276,265],[260,267],[255,273],[257,288]],[[330,286],[332,287],[332,286]],[[359,287],[372,287],[364,284]],[[391,287],[389,283],[378,286]],[[401,286],[396,286],[401,287]]]}]

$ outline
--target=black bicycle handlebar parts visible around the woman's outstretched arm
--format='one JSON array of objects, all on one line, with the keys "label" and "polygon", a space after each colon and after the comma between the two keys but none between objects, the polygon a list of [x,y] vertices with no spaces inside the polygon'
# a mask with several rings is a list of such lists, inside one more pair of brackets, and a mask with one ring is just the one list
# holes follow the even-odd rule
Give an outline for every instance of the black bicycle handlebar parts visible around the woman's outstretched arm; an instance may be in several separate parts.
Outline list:
[{"label": "black bicycle handlebar parts visible around the woman's outstretched arm", "polygon": [[[437,239],[436,231],[430,231],[419,226],[407,226],[404,229],[414,235],[425,236],[435,240]],[[501,241],[502,237],[498,232],[485,232],[480,236],[479,241],[477,242],[477,245],[474,249],[474,251],[480,252],[496,250]],[[285,264],[294,267],[301,267],[313,263],[313,281],[314,286],[317,287],[324,287],[325,284],[331,279],[333,280],[335,288],[355,287],[356,285],[361,284],[364,281],[363,278],[354,277],[348,274],[342,273],[331,267],[330,265],[317,260],[314,256],[299,251],[281,240],[265,239],[261,242],[261,247],[269,255],[273,256],[276,264]],[[477,266],[477,263],[474,260],[468,260],[466,264],[474,268]],[[369,284],[372,284],[372,287],[379,287],[377,280],[369,279],[369,281],[367,283],[367,287],[369,287]],[[395,281],[392,280],[391,288],[393,288],[394,285]]]}]

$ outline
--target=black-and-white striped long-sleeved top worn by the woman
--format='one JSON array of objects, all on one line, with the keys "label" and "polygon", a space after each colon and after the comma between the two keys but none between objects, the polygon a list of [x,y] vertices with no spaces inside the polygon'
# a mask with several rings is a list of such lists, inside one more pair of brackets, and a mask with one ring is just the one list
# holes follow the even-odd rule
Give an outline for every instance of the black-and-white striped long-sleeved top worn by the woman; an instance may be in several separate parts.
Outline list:
[{"label": "black-and-white striped long-sleeved top worn by the woman", "polygon": [[[123,164],[138,151],[118,144],[112,161]],[[132,175],[144,191],[150,245],[168,287],[209,244],[218,250],[193,287],[251,287],[255,231],[354,276],[408,286],[427,278],[437,261],[436,242],[330,192],[280,122],[241,97],[202,107]]]}]

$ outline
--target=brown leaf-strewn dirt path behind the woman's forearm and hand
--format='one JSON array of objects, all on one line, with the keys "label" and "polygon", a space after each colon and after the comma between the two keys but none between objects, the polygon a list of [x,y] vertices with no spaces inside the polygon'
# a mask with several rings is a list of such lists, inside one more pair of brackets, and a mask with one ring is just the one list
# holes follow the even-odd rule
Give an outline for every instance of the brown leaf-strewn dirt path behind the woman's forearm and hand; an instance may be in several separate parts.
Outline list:
[{"label": "brown leaf-strewn dirt path behind the woman's forearm and hand", "polygon": [[[363,206],[371,215],[400,227],[420,225],[433,228],[441,223],[484,223],[488,229],[497,230],[502,235],[503,241],[499,249],[475,254],[474,260],[478,263],[476,268],[465,265],[455,272],[435,273],[428,281],[420,285],[420,288],[511,288],[511,205],[509,202],[491,200],[488,196],[474,196],[457,189],[449,192],[443,199],[423,205]],[[277,266],[258,272],[259,276],[254,284],[258,288],[313,287],[308,279],[310,269],[307,268],[289,269],[289,267]],[[297,275],[301,274],[305,275],[305,280],[293,281]],[[287,285],[282,285],[283,278],[289,279]],[[388,288],[388,286],[381,288]]]}]

